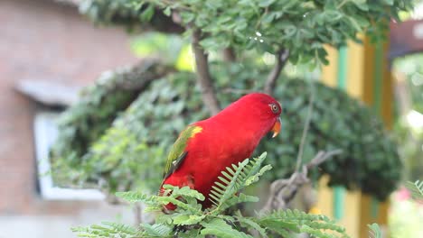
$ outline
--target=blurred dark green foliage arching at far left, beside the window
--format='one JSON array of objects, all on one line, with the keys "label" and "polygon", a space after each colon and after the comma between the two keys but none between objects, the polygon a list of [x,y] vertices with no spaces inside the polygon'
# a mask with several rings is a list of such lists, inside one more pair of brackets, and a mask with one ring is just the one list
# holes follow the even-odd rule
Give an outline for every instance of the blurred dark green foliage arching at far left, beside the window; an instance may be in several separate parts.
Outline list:
[{"label": "blurred dark green foliage arching at far left, beside the window", "polygon": [[[84,156],[91,145],[110,127],[114,118],[125,110],[153,79],[160,78],[167,70],[168,68],[158,60],[145,59],[134,67],[104,72],[94,85],[86,87],[80,95],[80,101],[62,114],[58,122],[59,138],[51,151],[55,182],[64,186],[70,183],[82,186],[84,183],[85,187],[88,186],[87,182],[92,182],[94,186],[98,186],[100,176],[96,173],[104,167],[109,167],[110,162],[104,160],[105,164],[100,165],[101,169],[98,170],[90,167],[91,162],[86,161]],[[124,131],[113,133],[122,137],[126,135]],[[131,139],[125,137],[119,141],[118,146],[130,143]],[[142,148],[145,146],[136,143],[136,149]],[[150,150],[150,153],[154,152],[156,151]],[[91,178],[90,174],[95,174],[96,177]]]}]

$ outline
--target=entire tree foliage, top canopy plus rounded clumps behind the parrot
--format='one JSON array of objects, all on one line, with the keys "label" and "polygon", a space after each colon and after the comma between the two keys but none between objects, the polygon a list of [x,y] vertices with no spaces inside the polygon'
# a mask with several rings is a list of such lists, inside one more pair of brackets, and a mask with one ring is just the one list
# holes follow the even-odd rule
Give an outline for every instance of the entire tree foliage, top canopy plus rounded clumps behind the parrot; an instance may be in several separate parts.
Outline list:
[{"label": "entire tree foliage, top canopy plus rounded clumps behind the parrot", "polygon": [[[258,148],[268,151],[268,161],[275,167],[268,181],[295,169],[314,95],[303,160],[311,160],[320,150],[343,150],[316,170],[315,178],[327,173],[331,185],[361,188],[385,198],[400,179],[401,165],[378,116],[342,91],[279,73],[287,60],[312,66],[327,63],[325,44],[339,47],[348,40],[358,41],[358,33],[380,40],[390,18],[409,9],[410,2],[82,1],[81,12],[94,23],[191,39],[196,73],[147,61],[100,77],[62,116],[60,140],[52,150],[54,176],[61,184],[92,185],[110,193],[154,191],[165,153],[183,126],[265,88],[284,107],[281,135],[276,141],[264,140]],[[220,57],[222,50],[230,57]],[[273,69],[263,64],[264,53],[275,55]],[[121,87],[127,78],[138,87]]]}]

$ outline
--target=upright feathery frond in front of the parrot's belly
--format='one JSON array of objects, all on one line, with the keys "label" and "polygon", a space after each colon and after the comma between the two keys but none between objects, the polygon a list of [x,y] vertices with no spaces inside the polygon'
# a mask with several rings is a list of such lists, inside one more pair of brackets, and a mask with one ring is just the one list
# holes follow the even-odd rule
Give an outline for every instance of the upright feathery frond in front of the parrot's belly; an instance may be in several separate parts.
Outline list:
[{"label": "upright feathery frond in front of the parrot's belly", "polygon": [[[210,200],[216,206],[213,213],[233,206],[240,202],[256,201],[256,198],[240,195],[234,198],[234,195],[242,188],[245,188],[258,181],[258,178],[266,171],[271,169],[270,165],[261,168],[261,163],[266,159],[266,152],[262,153],[258,158],[252,160],[243,160],[238,165],[232,164],[222,171],[219,181],[211,187]],[[261,168],[261,169],[260,169]]]}]

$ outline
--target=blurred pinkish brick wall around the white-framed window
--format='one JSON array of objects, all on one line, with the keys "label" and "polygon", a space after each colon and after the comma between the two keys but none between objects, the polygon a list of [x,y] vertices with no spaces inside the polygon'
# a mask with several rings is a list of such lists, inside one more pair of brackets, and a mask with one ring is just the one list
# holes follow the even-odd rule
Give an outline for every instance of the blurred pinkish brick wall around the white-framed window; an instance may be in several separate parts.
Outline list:
[{"label": "blurred pinkish brick wall around the white-framed window", "polygon": [[36,191],[33,114],[14,91],[25,80],[87,85],[105,69],[134,63],[127,35],[99,29],[53,0],[0,1],[0,215],[78,212],[80,202],[46,202]]}]

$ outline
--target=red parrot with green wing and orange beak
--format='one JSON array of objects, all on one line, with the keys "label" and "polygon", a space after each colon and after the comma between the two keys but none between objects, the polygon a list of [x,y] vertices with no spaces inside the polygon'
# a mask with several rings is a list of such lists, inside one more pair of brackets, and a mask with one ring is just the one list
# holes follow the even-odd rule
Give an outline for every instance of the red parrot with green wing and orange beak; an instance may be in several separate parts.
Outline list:
[{"label": "red parrot with green wing and orange beak", "polygon": [[266,133],[273,132],[273,137],[279,133],[281,110],[273,97],[252,93],[219,114],[188,125],[167,157],[159,194],[164,194],[164,184],[188,186],[206,197],[204,208],[211,206],[209,193],[221,171],[249,158]]}]

